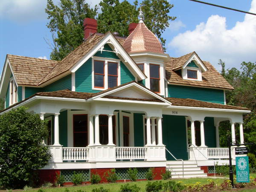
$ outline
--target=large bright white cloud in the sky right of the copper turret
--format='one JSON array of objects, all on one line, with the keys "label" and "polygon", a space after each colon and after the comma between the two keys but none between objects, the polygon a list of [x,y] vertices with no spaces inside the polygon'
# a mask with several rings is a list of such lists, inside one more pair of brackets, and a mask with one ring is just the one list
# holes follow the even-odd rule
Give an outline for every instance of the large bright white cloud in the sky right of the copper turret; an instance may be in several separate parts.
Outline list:
[{"label": "large bright white cloud in the sky right of the copper turret", "polygon": [[[256,0],[252,0],[249,12],[256,13]],[[227,68],[240,68],[242,61],[256,61],[256,16],[246,14],[244,21],[236,22],[227,29],[226,18],[212,15],[206,23],[200,23],[193,31],[175,36],[168,44],[179,55],[195,51],[218,67],[218,59],[226,62]]]}]

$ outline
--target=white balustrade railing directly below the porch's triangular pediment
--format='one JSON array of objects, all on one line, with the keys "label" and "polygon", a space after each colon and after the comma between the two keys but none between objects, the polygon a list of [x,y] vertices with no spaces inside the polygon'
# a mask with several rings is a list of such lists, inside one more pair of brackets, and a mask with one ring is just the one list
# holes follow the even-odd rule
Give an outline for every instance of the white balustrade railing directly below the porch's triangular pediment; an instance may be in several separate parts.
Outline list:
[{"label": "white balustrade railing directly below the porch's triangular pediment", "polygon": [[147,147],[116,147],[116,159],[146,159],[146,151]]}]

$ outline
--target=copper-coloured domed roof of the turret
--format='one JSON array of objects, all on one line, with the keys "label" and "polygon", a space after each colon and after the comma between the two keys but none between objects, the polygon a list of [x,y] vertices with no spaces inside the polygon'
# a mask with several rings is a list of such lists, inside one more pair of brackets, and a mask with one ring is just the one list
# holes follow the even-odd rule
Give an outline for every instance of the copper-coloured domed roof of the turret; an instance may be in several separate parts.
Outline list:
[{"label": "copper-coloured domed roof of the turret", "polygon": [[157,52],[164,53],[158,38],[144,23],[139,23],[134,31],[126,38],[123,47],[126,52]]}]

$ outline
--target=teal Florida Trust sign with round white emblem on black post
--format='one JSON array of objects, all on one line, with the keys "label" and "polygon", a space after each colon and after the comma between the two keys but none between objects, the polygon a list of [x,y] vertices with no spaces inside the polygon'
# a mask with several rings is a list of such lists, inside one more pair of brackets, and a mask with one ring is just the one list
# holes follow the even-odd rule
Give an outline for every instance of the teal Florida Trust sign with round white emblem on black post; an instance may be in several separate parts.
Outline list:
[{"label": "teal Florida Trust sign with round white emblem on black post", "polygon": [[236,157],[236,182],[249,183],[249,160],[247,156]]}]

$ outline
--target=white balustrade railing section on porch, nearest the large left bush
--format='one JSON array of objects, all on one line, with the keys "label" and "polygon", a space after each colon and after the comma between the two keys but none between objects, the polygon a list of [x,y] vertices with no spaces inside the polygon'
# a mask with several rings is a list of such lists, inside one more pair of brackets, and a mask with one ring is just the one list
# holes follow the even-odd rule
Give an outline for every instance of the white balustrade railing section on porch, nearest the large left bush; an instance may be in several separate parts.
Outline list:
[{"label": "white balustrade railing section on porch, nearest the large left bush", "polygon": [[63,147],[63,160],[88,160],[88,147]]}]

